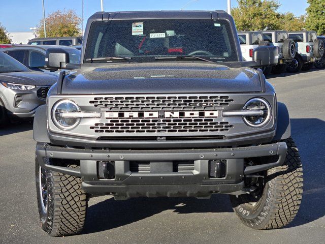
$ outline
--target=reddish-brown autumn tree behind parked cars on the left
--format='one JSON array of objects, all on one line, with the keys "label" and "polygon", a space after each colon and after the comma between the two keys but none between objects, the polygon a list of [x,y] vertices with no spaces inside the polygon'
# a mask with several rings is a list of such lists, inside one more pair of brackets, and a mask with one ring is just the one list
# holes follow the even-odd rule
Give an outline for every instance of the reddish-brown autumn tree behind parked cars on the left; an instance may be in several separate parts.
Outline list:
[{"label": "reddish-brown autumn tree behind parked cars on the left", "polygon": [[[55,11],[45,18],[46,37],[73,37],[80,35],[81,18],[73,10]],[[37,28],[39,37],[44,37],[43,19]]]}]

